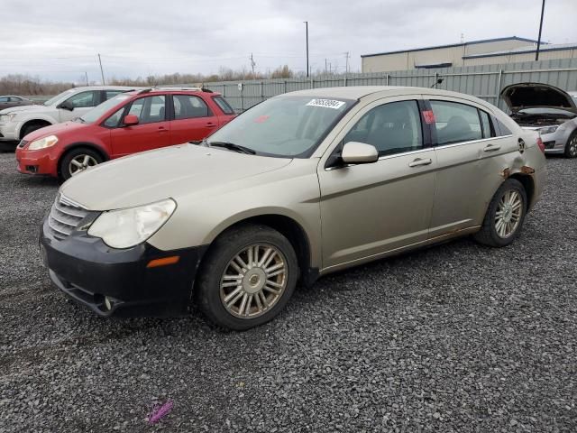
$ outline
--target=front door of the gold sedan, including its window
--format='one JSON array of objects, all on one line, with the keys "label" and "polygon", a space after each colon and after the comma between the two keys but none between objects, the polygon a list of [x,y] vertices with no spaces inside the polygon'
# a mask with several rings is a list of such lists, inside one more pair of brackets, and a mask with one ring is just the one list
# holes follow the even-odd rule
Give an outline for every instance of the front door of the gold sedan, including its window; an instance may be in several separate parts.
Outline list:
[{"label": "front door of the gold sedan, including its window", "polygon": [[424,145],[418,97],[406,99],[363,108],[343,137],[374,145],[379,161],[319,167],[324,269],[426,240],[436,158]]}]

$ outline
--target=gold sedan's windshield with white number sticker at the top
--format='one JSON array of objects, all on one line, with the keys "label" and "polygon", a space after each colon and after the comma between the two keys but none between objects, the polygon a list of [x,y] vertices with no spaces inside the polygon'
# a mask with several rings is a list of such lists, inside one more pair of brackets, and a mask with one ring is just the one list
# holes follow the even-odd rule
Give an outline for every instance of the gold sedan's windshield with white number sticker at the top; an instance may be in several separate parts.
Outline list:
[{"label": "gold sedan's windshield with white number sticker at the top", "polygon": [[233,143],[265,156],[308,158],[354,102],[273,97],[225,124],[208,143]]}]

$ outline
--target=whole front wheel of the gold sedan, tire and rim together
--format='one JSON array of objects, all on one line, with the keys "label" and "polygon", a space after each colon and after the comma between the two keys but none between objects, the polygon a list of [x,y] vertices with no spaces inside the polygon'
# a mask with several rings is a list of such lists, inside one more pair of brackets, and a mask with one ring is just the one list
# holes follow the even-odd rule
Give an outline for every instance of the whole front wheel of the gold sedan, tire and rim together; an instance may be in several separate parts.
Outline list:
[{"label": "whole front wheel of the gold sedan, tire and rim together", "polygon": [[219,327],[245,330],[274,318],[298,279],[289,240],[268,226],[246,225],[219,236],[197,280],[197,302]]}]

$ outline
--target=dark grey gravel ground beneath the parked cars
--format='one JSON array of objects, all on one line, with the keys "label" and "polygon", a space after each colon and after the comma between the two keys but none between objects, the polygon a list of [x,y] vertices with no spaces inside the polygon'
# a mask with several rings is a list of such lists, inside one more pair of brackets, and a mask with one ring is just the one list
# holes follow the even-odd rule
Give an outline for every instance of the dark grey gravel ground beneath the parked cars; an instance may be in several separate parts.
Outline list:
[{"label": "dark grey gravel ground beneath the parked cars", "polygon": [[58,184],[0,154],[0,431],[577,431],[577,161],[547,165],[512,246],[335,274],[241,334],[66,300],[36,240]]}]

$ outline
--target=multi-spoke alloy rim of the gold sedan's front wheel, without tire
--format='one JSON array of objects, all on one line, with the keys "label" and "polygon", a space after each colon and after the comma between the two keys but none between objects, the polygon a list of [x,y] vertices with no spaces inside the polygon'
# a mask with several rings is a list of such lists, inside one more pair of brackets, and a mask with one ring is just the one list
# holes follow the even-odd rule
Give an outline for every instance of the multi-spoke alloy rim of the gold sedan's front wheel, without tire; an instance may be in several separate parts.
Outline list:
[{"label": "multi-spoke alloy rim of the gold sedan's front wheel, without tire", "polygon": [[220,299],[234,317],[257,318],[282,297],[288,276],[287,260],[277,247],[252,244],[224,268]]}]

